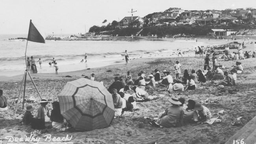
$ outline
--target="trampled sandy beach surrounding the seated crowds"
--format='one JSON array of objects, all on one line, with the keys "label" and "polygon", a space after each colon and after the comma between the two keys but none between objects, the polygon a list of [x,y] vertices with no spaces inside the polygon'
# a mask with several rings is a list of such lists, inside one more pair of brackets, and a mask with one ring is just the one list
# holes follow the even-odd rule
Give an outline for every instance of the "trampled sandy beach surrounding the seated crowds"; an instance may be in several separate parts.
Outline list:
[{"label": "trampled sandy beach surrounding the seated crowds", "polygon": [[[241,41],[240,41],[241,42]],[[250,44],[250,41],[245,42],[245,51],[253,51],[254,44]],[[220,50],[223,51],[223,50]],[[230,50],[235,52],[236,50]],[[222,55],[218,55],[221,57]],[[58,94],[63,89],[64,85],[68,81],[73,81],[85,76],[90,77],[92,73],[95,74],[95,81],[103,81],[106,88],[114,81],[115,76],[125,76],[127,71],[131,72],[133,78],[135,78],[141,70],[148,76],[150,73],[154,73],[154,69],[158,68],[163,75],[163,70],[170,70],[171,75],[174,77],[174,62],[180,61],[182,67],[182,75],[185,69],[189,74],[192,69],[203,69],[204,58],[195,57],[194,54],[186,55],[186,57],[171,57],[171,58],[137,58],[129,61],[128,65],[119,63],[116,65],[104,66],[100,68],[91,68],[89,70],[79,70],[74,72],[60,72],[58,75],[50,74],[32,74],[32,78],[43,98],[50,100],[50,103],[58,101]],[[164,97],[157,98],[149,102],[137,102],[140,110],[135,113],[123,114],[122,116],[113,119],[109,127],[104,129],[96,129],[93,131],[68,131],[68,132],[56,132],[51,129],[51,124],[46,123],[48,132],[41,134],[40,142],[44,142],[44,135],[51,134],[52,137],[66,137],[66,135],[72,135],[74,144],[223,144],[234,135],[239,129],[241,129],[247,122],[249,122],[255,115],[256,108],[256,58],[249,58],[239,60],[244,68],[242,74],[237,75],[236,86],[219,87],[213,86],[211,81],[207,81],[203,84],[198,84],[196,90],[179,91],[169,94],[168,92],[158,92],[156,90],[147,90],[151,96],[158,96],[163,94]],[[225,68],[223,71],[231,70],[231,67],[235,65],[236,61],[225,61],[224,59],[218,59],[218,63]],[[212,66],[212,62],[210,62]],[[111,72],[106,72],[111,70]],[[66,76],[71,76],[67,78]],[[23,75],[13,77],[0,77],[0,89],[4,91],[4,96],[8,98],[9,110],[2,113],[0,118],[0,135],[3,138],[3,144],[7,142],[6,136],[24,137],[29,135],[33,131],[31,126],[25,126],[21,124],[21,118],[25,109],[22,109],[22,101],[20,100],[18,109],[13,119],[13,113],[16,106],[11,104],[13,98],[17,98],[19,89],[22,83]],[[217,83],[218,81],[215,81]],[[157,86],[159,88],[159,86]],[[235,93],[230,93],[228,90],[238,90]],[[132,94],[132,91],[129,91]],[[21,90],[23,96],[23,89]],[[40,98],[37,91],[33,87],[32,81],[27,76],[26,83],[26,95],[28,99],[31,96],[35,98],[33,103],[30,103],[35,107],[32,114],[37,115],[37,107],[39,106]],[[207,98],[211,103],[204,104],[210,109],[213,117],[217,117],[218,112],[224,109],[224,115],[222,115],[222,122],[209,124],[185,124],[182,127],[174,128],[157,128],[148,124],[148,120],[145,120],[144,116],[157,117],[159,113],[164,111],[171,103],[167,100],[171,96],[177,96],[185,98],[186,102],[189,99],[196,102],[204,101]],[[28,103],[25,103],[25,107]],[[48,106],[52,106],[48,104]],[[236,118],[242,116],[242,125],[231,126],[231,122],[234,122]],[[140,126],[139,126],[140,124]],[[141,127],[142,126],[142,127]]]}]

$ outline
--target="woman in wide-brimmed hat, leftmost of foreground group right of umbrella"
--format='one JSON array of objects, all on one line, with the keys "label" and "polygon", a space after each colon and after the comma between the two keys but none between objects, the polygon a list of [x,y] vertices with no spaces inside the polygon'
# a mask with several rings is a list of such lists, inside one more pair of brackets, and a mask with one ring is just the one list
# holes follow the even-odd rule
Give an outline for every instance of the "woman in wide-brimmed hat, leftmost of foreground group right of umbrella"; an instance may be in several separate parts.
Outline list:
[{"label": "woman in wide-brimmed hat, leftmost of foreground group right of umbrella", "polygon": [[159,123],[163,127],[177,127],[183,124],[183,108],[180,106],[182,103],[179,102],[178,98],[172,97],[168,100],[171,102],[165,112],[160,116]]}]

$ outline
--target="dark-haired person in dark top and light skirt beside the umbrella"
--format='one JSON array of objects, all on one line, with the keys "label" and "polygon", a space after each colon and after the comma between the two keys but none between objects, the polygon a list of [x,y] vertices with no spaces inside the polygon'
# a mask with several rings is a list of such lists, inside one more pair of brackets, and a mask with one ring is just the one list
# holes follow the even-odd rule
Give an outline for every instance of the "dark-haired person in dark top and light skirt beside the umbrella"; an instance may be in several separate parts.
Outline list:
[{"label": "dark-haired person in dark top and light skirt beside the umbrella", "polygon": [[60,112],[59,102],[52,103],[52,112],[50,120],[52,121],[52,127],[57,130],[65,127],[64,118]]}]

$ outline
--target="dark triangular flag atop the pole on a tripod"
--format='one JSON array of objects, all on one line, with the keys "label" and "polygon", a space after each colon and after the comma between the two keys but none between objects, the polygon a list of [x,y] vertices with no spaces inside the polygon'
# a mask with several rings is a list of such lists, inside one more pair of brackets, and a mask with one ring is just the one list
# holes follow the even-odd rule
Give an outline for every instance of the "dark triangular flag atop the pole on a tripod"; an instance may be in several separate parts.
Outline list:
[{"label": "dark triangular flag atop the pole on a tripod", "polygon": [[45,39],[39,33],[37,28],[35,28],[31,20],[30,20],[29,30],[28,30],[28,41],[45,43]]}]

